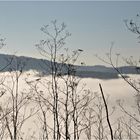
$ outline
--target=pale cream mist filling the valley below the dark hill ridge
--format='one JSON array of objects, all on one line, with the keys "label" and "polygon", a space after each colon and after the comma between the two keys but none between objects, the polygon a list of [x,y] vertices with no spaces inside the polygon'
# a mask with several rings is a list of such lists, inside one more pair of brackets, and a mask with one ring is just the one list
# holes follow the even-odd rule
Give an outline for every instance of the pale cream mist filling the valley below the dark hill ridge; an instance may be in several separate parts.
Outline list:
[{"label": "pale cream mist filling the valley below the dark hill ridge", "polygon": [[[20,75],[21,74],[21,75]],[[127,75],[131,77],[131,79],[138,80],[139,75],[131,74]],[[42,136],[45,133],[44,131],[44,119],[46,120],[48,139],[53,139],[53,111],[52,111],[52,103],[53,98],[51,95],[51,75],[40,74],[35,70],[30,71],[10,71],[10,72],[1,72],[1,137],[5,137],[4,139],[9,139],[9,135],[7,130],[4,129],[3,125],[5,124],[3,121],[6,119],[6,123],[10,127],[12,131],[14,129],[14,125],[12,121],[12,115],[18,109],[18,117],[17,117],[17,128],[22,134],[23,139],[42,139]],[[18,78],[18,81],[17,79]],[[67,79],[67,76],[63,77]],[[64,79],[57,79],[58,83],[58,94],[59,94],[59,124],[61,128],[62,134],[65,132],[65,99],[66,99],[66,91],[68,85],[66,85],[66,81]],[[68,80],[68,79],[67,79]],[[70,80],[70,79],[69,79]],[[132,129],[136,132],[136,125],[138,125],[136,120],[131,120],[130,114],[134,117],[139,115],[139,111],[137,108],[137,93],[136,91],[128,85],[120,76],[116,79],[95,79],[95,78],[80,78],[75,77],[73,82],[77,82],[78,85],[76,87],[75,102],[77,102],[77,125],[79,131],[80,139],[87,139],[87,131],[89,131],[89,124],[92,139],[98,139],[98,135],[102,133],[103,137],[109,138],[110,135],[108,124],[106,120],[106,112],[104,108],[104,102],[101,96],[101,91],[99,87],[99,83],[102,85],[102,89],[104,92],[104,96],[106,98],[106,102],[108,105],[109,111],[109,119],[112,125],[112,129],[116,132],[115,137],[119,137],[118,133],[118,125],[121,125],[121,137],[128,137],[126,130],[129,129],[127,125],[129,123],[132,125]],[[72,81],[71,81],[72,82]],[[69,83],[70,84],[70,83]],[[70,85],[69,85],[70,86]],[[63,90],[63,91],[62,91]],[[68,111],[69,113],[72,109],[72,93],[69,89],[69,105]],[[15,102],[17,100],[17,102]],[[63,103],[64,102],[64,103]],[[14,107],[13,110],[13,105]],[[127,111],[127,113],[123,110]],[[45,118],[42,113],[45,112]],[[86,113],[86,114],[85,114]],[[130,114],[129,114],[130,113]],[[63,118],[64,117],[64,118]],[[89,118],[90,119],[89,119]],[[3,120],[4,119],[4,120]],[[73,123],[72,116],[69,116],[69,133],[70,136],[74,136],[73,132]],[[101,121],[101,122],[100,122]],[[131,122],[132,121],[132,122]],[[136,122],[135,122],[136,121]],[[135,123],[135,124],[133,124]],[[99,125],[100,124],[100,125]],[[101,129],[101,130],[100,130]],[[101,132],[100,132],[100,131]],[[118,133],[117,133],[118,131]],[[137,135],[131,132],[133,139],[138,139]],[[93,138],[94,137],[94,138]],[[65,139],[62,137],[62,139]],[[73,138],[72,138],[73,139]]]}]

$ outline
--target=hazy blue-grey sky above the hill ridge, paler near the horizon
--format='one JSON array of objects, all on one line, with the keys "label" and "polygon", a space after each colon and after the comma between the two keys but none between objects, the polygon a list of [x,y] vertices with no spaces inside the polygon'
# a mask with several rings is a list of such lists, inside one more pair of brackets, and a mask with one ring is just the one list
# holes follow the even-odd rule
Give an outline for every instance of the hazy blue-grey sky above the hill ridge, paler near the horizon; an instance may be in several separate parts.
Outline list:
[{"label": "hazy blue-grey sky above the hill ridge, paler near the horizon", "polygon": [[65,22],[72,36],[66,46],[71,50],[81,48],[81,57],[87,65],[98,64],[94,54],[105,56],[114,44],[114,53],[137,58],[140,44],[137,35],[127,30],[124,20],[140,13],[140,2],[0,2],[0,34],[6,37],[2,53],[41,57],[35,48],[44,39],[43,25],[57,19]]}]

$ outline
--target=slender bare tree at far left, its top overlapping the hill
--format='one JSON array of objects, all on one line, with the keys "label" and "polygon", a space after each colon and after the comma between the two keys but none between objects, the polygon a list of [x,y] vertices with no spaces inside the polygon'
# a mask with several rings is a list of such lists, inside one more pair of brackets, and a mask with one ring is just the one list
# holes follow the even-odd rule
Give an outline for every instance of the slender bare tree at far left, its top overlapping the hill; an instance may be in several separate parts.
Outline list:
[{"label": "slender bare tree at far left, its top overlapping the hill", "polygon": [[20,78],[23,73],[24,63],[19,62],[15,57],[15,65],[11,66],[11,71],[6,74],[5,81],[1,84],[5,90],[5,100],[1,106],[1,118],[4,122],[5,134],[3,138],[18,140],[23,139],[22,127],[27,119],[35,115],[33,107],[29,110],[32,94],[19,89]]}]

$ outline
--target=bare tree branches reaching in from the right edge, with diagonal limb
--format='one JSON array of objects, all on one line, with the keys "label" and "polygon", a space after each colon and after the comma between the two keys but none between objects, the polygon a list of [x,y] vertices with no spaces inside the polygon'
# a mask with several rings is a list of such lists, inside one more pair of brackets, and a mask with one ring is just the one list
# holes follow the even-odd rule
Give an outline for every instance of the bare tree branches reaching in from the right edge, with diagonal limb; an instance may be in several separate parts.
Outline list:
[{"label": "bare tree branches reaching in from the right edge, with diagonal limb", "polygon": [[[136,20],[130,19],[130,20],[125,20],[125,25],[129,31],[132,33],[138,35],[138,39],[140,38],[140,30],[139,30],[139,23],[138,22],[139,15],[137,14]],[[112,48],[113,48],[113,43],[110,48],[109,53],[107,53],[107,58],[108,60],[105,60],[99,56],[97,56],[101,61],[105,62],[106,64],[110,65],[111,67],[114,68],[114,70],[120,75],[120,77],[130,86],[132,89],[135,91],[135,106],[133,107],[132,111],[129,111],[122,103],[118,103],[121,111],[126,115],[128,118],[128,122],[126,120],[124,121],[119,121],[118,123],[118,130],[119,131],[119,139],[123,138],[128,138],[128,139],[134,139],[134,137],[139,138],[139,114],[140,114],[140,84],[139,84],[139,78],[137,77],[129,77],[126,74],[123,73],[123,70],[118,67],[118,60],[120,57],[120,54],[116,54],[116,62],[113,61],[113,55],[112,55]],[[136,60],[133,56],[130,56],[129,58],[123,58],[124,62],[128,65],[131,66],[135,69],[135,72],[137,74],[140,73],[140,61]],[[122,127],[122,128],[121,128]],[[125,131],[126,130],[126,131]],[[125,132],[124,132],[125,131]],[[115,130],[116,132],[116,130]],[[125,136],[124,136],[125,134]],[[116,134],[114,134],[115,137]]]}]

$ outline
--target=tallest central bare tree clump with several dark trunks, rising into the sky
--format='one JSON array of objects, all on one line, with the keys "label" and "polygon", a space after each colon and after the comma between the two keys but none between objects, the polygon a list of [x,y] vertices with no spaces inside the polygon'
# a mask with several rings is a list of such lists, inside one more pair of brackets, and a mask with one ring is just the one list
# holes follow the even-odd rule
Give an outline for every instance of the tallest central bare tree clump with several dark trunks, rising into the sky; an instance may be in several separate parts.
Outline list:
[{"label": "tallest central bare tree clump with several dark trunks, rising into the sky", "polygon": [[[58,26],[55,20],[52,29],[49,27],[50,25],[41,28],[47,39],[41,40],[36,47],[42,56],[50,60],[50,63],[43,61],[42,67],[51,76],[40,77],[33,83],[28,81],[37,95],[35,100],[41,110],[39,119],[43,128],[42,138],[78,140],[85,131],[92,133],[89,127],[92,127],[94,120],[87,120],[83,115],[89,113],[95,96],[91,91],[85,90],[84,85],[80,88],[81,79],[76,76],[79,68],[76,64],[83,50],[77,49],[71,53],[64,48],[65,40],[70,36],[64,23]],[[50,122],[53,122],[53,127]]]}]

